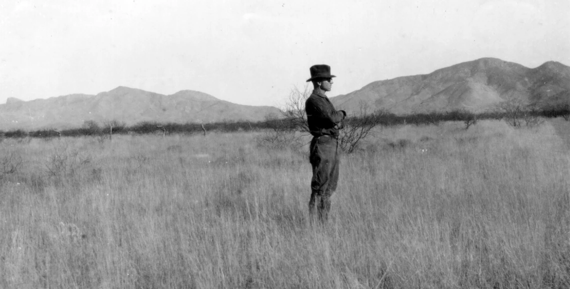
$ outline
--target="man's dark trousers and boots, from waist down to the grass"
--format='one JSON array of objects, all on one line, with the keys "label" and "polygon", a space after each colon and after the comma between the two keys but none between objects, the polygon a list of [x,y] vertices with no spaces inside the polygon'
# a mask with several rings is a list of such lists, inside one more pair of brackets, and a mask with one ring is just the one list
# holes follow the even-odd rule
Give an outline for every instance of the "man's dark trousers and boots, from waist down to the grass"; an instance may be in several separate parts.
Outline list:
[{"label": "man's dark trousers and boots, from waist down to the grass", "polygon": [[339,143],[333,136],[313,137],[311,141],[309,157],[313,168],[311,199],[309,201],[311,218],[314,218],[317,212],[321,221],[328,219],[328,212],[331,210],[330,198],[339,181],[338,148]]}]

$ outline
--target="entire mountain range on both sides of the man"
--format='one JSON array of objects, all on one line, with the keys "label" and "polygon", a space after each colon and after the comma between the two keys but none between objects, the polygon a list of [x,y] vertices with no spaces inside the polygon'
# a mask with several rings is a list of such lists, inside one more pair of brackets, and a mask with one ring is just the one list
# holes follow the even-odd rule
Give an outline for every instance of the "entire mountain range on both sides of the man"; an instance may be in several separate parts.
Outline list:
[{"label": "entire mountain range on both sides of the man", "polygon": [[[380,80],[331,97],[337,109],[357,113],[364,105],[406,114],[457,109],[481,112],[502,101],[518,98],[534,105],[570,103],[570,67],[546,62],[536,68],[496,58],[482,58],[441,68],[430,74]],[[198,91],[173,95],[117,87],[97,95],[73,94],[22,101],[9,98],[0,104],[0,130],[74,128],[86,120],[118,120],[127,125],[141,121],[209,123],[258,121],[279,115],[275,107],[240,105]]]}]

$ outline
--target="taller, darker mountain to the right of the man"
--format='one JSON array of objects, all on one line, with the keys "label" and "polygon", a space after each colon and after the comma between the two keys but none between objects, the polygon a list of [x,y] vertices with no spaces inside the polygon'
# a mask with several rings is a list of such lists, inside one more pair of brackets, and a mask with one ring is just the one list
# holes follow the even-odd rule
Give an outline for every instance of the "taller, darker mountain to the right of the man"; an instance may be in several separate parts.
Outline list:
[{"label": "taller, darker mountain to the right of the man", "polygon": [[358,111],[364,103],[370,110],[394,113],[484,111],[509,97],[529,104],[570,101],[570,67],[547,62],[536,68],[496,58],[455,64],[427,75],[381,80],[348,93],[331,97],[337,109]]}]

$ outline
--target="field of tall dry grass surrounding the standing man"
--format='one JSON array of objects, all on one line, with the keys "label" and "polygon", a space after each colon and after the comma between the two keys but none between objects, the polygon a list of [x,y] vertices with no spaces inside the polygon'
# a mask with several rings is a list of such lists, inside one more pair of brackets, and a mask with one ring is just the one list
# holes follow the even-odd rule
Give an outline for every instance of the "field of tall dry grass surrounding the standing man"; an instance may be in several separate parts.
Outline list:
[{"label": "field of tall dry grass surrounding the standing man", "polygon": [[557,131],[378,128],[342,156],[325,225],[307,147],[262,132],[6,139],[0,288],[569,288]]}]

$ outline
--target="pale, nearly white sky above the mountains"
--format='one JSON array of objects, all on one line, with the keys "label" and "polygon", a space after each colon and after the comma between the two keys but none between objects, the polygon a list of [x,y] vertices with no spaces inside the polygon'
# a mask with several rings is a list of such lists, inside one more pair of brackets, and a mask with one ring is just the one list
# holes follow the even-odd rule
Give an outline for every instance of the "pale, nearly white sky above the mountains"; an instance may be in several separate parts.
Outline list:
[{"label": "pale, nearly white sky above the mountains", "polygon": [[0,103],[117,86],[280,105],[482,57],[570,65],[570,0],[0,0]]}]

